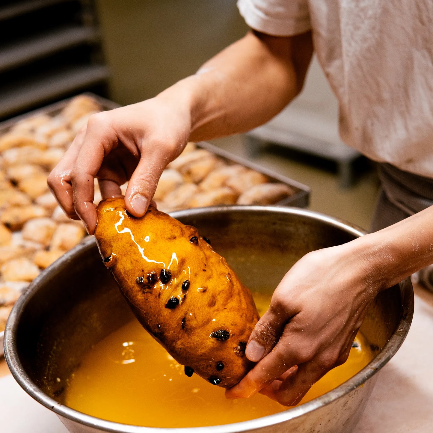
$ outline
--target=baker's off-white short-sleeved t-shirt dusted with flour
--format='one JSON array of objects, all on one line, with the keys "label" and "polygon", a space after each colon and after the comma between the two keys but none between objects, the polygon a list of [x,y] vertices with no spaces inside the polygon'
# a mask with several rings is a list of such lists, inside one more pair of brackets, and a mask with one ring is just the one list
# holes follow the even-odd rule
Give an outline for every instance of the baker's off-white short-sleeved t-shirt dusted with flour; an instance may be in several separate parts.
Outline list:
[{"label": "baker's off-white short-sleeved t-shirt dusted with flour", "polygon": [[347,145],[433,178],[432,0],[239,0],[238,7],[260,32],[312,30]]}]

